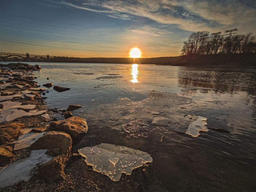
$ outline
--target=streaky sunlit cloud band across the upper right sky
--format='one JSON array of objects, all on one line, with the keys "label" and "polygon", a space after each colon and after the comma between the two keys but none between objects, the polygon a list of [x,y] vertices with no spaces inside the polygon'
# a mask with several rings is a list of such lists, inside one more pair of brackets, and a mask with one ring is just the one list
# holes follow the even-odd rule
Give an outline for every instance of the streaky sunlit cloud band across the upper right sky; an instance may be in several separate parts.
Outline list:
[{"label": "streaky sunlit cloud band across the upper right sky", "polygon": [[[109,17],[136,21],[143,17],[157,23],[175,25],[188,31],[215,31],[224,28],[250,28],[255,10],[238,6],[232,0],[69,0],[67,6],[106,14]],[[238,3],[238,4],[237,4]],[[250,25],[250,27],[246,27]],[[256,30],[256,27],[252,27]],[[133,32],[148,34],[147,30]],[[150,33],[150,32],[149,32]],[[157,33],[153,33],[157,35]]]}]

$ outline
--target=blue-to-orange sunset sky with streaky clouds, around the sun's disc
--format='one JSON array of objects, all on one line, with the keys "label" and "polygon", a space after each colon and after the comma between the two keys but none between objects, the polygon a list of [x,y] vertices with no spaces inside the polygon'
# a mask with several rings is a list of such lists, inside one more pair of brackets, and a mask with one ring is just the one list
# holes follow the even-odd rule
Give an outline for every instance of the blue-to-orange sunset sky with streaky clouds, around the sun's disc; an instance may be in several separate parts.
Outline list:
[{"label": "blue-to-orange sunset sky with streaky clouds, around the sun's disc", "polygon": [[192,32],[256,35],[255,7],[255,0],[1,0],[0,52],[129,57],[138,47],[143,58],[179,56]]}]

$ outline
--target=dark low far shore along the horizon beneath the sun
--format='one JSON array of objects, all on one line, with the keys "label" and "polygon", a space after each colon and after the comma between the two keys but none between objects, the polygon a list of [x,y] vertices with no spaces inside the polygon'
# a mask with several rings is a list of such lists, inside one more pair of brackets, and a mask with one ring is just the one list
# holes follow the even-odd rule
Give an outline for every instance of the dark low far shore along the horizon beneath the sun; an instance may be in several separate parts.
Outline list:
[{"label": "dark low far shore along the horizon beneath the sun", "polygon": [[[12,62],[11,58],[6,60]],[[19,61],[23,61],[20,59]],[[36,62],[45,62],[36,60]],[[210,54],[210,55],[186,55],[176,57],[156,58],[54,58],[48,62],[65,63],[114,63],[114,64],[155,64],[172,66],[232,66],[232,67],[256,67],[256,53],[239,54]]]}]

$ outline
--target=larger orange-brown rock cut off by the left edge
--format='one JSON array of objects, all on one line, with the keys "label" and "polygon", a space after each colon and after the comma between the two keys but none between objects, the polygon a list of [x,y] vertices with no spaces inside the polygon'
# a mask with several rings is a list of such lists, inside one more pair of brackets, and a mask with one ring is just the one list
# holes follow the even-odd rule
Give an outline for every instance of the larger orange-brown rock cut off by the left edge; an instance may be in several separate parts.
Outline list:
[{"label": "larger orange-brown rock cut off by the left edge", "polygon": [[25,128],[21,123],[10,123],[0,126],[0,145],[4,142],[16,139],[20,135],[20,129]]}]

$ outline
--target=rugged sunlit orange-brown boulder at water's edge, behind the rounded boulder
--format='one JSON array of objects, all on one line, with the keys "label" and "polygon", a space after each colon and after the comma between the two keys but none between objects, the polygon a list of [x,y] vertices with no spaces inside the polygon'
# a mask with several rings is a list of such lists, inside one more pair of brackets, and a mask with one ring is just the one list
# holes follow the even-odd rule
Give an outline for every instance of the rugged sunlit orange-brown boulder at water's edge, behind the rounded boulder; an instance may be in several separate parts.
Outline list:
[{"label": "rugged sunlit orange-brown boulder at water's edge, behind the rounded boulder", "polygon": [[57,131],[68,132],[72,139],[80,139],[88,130],[86,120],[76,116],[51,122],[50,126]]}]

